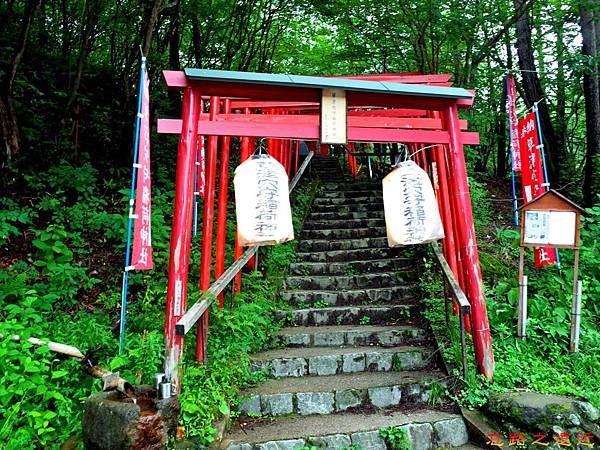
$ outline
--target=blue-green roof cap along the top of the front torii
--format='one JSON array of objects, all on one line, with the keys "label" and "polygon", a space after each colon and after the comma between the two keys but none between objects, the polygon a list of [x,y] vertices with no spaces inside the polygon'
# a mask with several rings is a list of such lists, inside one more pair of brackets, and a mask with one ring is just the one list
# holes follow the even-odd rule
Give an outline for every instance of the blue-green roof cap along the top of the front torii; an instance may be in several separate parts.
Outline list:
[{"label": "blue-green roof cap along the top of the front torii", "polygon": [[439,87],[424,84],[392,83],[387,81],[367,81],[336,77],[311,77],[306,75],[287,75],[275,73],[235,72],[230,70],[185,69],[186,77],[198,81],[216,81],[229,83],[250,83],[282,87],[329,88],[347,91],[377,92],[413,97],[444,99],[471,99],[466,89]]}]

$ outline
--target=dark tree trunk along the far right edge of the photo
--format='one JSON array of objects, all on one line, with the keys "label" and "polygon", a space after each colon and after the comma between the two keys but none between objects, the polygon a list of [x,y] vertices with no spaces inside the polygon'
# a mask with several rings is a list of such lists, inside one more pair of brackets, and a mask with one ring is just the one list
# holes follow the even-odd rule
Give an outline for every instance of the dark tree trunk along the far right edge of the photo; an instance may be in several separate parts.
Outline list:
[{"label": "dark tree trunk along the far right edge of the photo", "polygon": [[[596,4],[596,2],[594,2]],[[583,174],[583,203],[593,206],[600,194],[600,92],[598,89],[598,65],[595,62],[596,32],[594,14],[586,8],[579,10],[582,48],[589,59],[589,69],[583,75],[585,98],[585,130],[587,149]]]}]

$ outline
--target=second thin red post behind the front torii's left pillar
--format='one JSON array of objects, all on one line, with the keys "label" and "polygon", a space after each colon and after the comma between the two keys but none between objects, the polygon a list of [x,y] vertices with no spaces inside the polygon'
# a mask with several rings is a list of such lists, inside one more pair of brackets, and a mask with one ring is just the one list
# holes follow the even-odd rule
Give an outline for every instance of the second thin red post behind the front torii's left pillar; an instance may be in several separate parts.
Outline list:
[{"label": "second thin red post behind the front torii's left pillar", "polygon": [[[223,112],[231,111],[231,100],[223,102]],[[215,248],[215,280],[225,271],[225,239],[227,234],[227,195],[229,188],[229,144],[231,138],[221,138],[220,174],[219,174],[219,205],[217,207],[217,244]],[[217,296],[219,309],[223,309],[223,293]]]}]

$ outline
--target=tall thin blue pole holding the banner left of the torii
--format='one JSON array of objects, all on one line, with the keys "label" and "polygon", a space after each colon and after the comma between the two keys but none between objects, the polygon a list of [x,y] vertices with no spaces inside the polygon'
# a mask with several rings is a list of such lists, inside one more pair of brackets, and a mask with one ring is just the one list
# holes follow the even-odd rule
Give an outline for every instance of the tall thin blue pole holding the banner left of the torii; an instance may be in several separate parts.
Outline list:
[{"label": "tall thin blue pole holding the banner left of the torii", "polygon": [[135,184],[138,171],[138,147],[140,143],[140,122],[142,120],[142,93],[144,89],[144,73],[146,72],[146,57],[142,56],[140,66],[140,83],[138,87],[138,107],[135,118],[135,141],[133,144],[133,167],[131,172],[131,189],[129,195],[129,217],[127,221],[127,248],[125,249],[125,268],[123,270],[123,285],[121,289],[121,324],[119,328],[119,354],[125,347],[125,319],[127,311],[127,291],[129,288],[129,271],[131,270],[131,229],[133,227],[133,206],[135,203]]}]

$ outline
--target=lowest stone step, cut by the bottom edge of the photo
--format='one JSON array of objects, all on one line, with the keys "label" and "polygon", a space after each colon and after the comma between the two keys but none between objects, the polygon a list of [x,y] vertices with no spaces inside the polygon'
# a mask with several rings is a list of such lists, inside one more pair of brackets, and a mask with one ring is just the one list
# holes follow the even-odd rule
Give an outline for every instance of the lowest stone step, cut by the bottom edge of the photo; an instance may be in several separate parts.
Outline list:
[{"label": "lowest stone step, cut by the bottom edge of the photo", "polygon": [[373,414],[362,411],[344,412],[329,416],[289,416],[272,420],[244,419],[245,426],[234,426],[221,442],[227,450],[294,450],[388,448],[379,430],[404,430],[412,450],[459,447],[469,436],[462,417],[431,409],[409,413],[384,410]]}]

